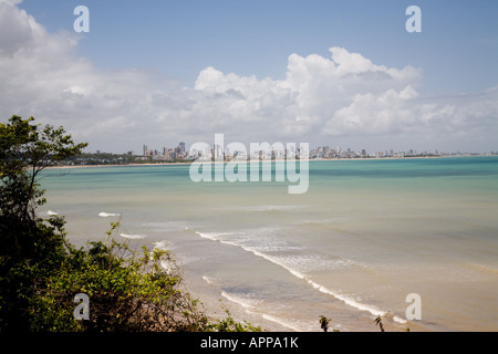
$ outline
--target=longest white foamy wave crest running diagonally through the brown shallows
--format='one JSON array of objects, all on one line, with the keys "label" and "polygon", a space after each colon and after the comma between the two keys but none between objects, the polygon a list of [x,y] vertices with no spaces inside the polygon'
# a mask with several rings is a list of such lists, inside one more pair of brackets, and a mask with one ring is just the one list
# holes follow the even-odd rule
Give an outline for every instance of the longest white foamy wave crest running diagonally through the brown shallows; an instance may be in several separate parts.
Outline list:
[{"label": "longest white foamy wave crest running diagonally through the brown shallows", "polygon": [[[383,311],[383,310],[381,310],[381,309],[378,309],[378,308],[376,308],[374,305],[369,305],[369,304],[361,303],[361,302],[354,300],[353,298],[351,298],[349,295],[341,294],[341,293],[339,293],[336,291],[330,290],[330,289],[328,289],[328,288],[317,283],[315,281],[311,280],[303,272],[300,272],[299,270],[295,270],[292,267],[289,267],[289,264],[286,263],[284,261],[282,261],[281,258],[272,257],[272,256],[266,254],[266,253],[263,253],[263,252],[261,252],[259,250],[256,250],[253,248],[250,248],[250,247],[247,247],[247,246],[234,242],[234,241],[222,240],[220,238],[220,236],[230,235],[230,233],[224,233],[224,232],[220,232],[220,233],[215,233],[215,232],[206,233],[206,232],[198,232],[198,231],[196,231],[196,233],[199,235],[203,238],[210,239],[212,241],[218,241],[220,243],[239,247],[239,248],[243,249],[245,251],[251,252],[252,254],[255,254],[257,257],[263,258],[263,259],[266,259],[266,260],[268,260],[268,261],[270,261],[270,262],[272,262],[272,263],[274,263],[277,266],[280,266],[281,268],[286,269],[288,272],[290,272],[292,275],[294,275],[294,277],[297,277],[297,278],[308,282],[313,289],[317,289],[318,291],[320,291],[320,292],[322,292],[324,294],[331,295],[331,296],[333,296],[333,298],[344,302],[345,304],[347,304],[347,305],[350,305],[352,308],[355,308],[355,309],[361,310],[361,311],[367,311],[367,312],[370,312],[371,314],[373,314],[375,316],[378,316],[378,315],[383,316],[383,315],[386,315],[388,313],[387,311]],[[343,261],[347,262],[345,260],[343,260]],[[398,323],[406,323],[405,320],[403,320],[403,319],[401,319],[398,316],[393,316],[393,320],[398,322]]]}]

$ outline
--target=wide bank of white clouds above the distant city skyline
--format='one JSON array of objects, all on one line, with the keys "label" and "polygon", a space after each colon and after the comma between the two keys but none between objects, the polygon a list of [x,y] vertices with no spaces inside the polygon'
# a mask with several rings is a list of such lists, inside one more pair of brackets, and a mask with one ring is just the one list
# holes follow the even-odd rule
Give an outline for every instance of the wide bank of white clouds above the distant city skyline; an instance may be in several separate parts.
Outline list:
[{"label": "wide bank of white clouds above the distant city skyline", "polygon": [[377,65],[333,46],[331,58],[289,55],[282,80],[208,66],[194,87],[181,88],[158,73],[95,67],[76,55],[79,34],[49,33],[18,3],[0,0],[1,118],[34,115],[63,125],[91,149],[160,149],[210,142],[215,133],[243,143],[382,137],[378,148],[418,140],[452,148],[486,140],[480,146],[496,148],[497,87],[423,97],[421,70]]}]

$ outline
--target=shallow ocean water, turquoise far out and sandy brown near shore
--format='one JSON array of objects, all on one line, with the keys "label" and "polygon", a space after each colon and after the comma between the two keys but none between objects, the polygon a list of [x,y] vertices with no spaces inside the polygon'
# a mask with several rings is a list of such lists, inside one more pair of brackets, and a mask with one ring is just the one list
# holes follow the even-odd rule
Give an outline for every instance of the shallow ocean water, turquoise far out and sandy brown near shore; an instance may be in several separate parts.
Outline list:
[{"label": "shallow ocean water, turquoise far out and sandy brown near shore", "polygon": [[[70,240],[169,249],[207,312],[267,331],[498,331],[498,157],[311,160],[309,188],[188,165],[46,169]],[[415,294],[415,298],[413,298]],[[416,300],[413,300],[416,299]],[[415,317],[414,317],[415,316]]]}]

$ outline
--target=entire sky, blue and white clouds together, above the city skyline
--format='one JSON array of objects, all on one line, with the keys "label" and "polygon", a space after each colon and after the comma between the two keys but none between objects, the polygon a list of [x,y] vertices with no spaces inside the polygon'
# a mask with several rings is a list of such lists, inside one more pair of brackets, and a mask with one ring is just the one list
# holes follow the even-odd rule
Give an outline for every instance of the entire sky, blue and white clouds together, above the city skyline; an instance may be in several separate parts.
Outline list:
[{"label": "entire sky, blue and white clouds together, above the city skyline", "polygon": [[[74,9],[90,10],[76,33]],[[422,10],[422,32],[405,13]],[[0,119],[180,140],[498,150],[498,2],[0,0]]]}]

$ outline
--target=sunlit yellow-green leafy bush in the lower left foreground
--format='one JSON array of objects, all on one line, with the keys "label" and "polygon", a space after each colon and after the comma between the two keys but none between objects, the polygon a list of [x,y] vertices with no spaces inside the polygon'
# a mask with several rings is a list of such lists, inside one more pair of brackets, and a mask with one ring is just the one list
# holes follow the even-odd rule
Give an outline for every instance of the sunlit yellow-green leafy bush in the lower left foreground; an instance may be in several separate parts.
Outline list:
[{"label": "sunlit yellow-green leafy bush in the lower left foreground", "polygon": [[[87,250],[72,248],[60,271],[37,293],[32,330],[201,331],[208,320],[197,301],[180,291],[181,278],[174,266],[168,251],[143,247],[138,252],[110,235],[105,242],[90,242]],[[77,293],[91,299],[89,321],[73,316]]]}]

